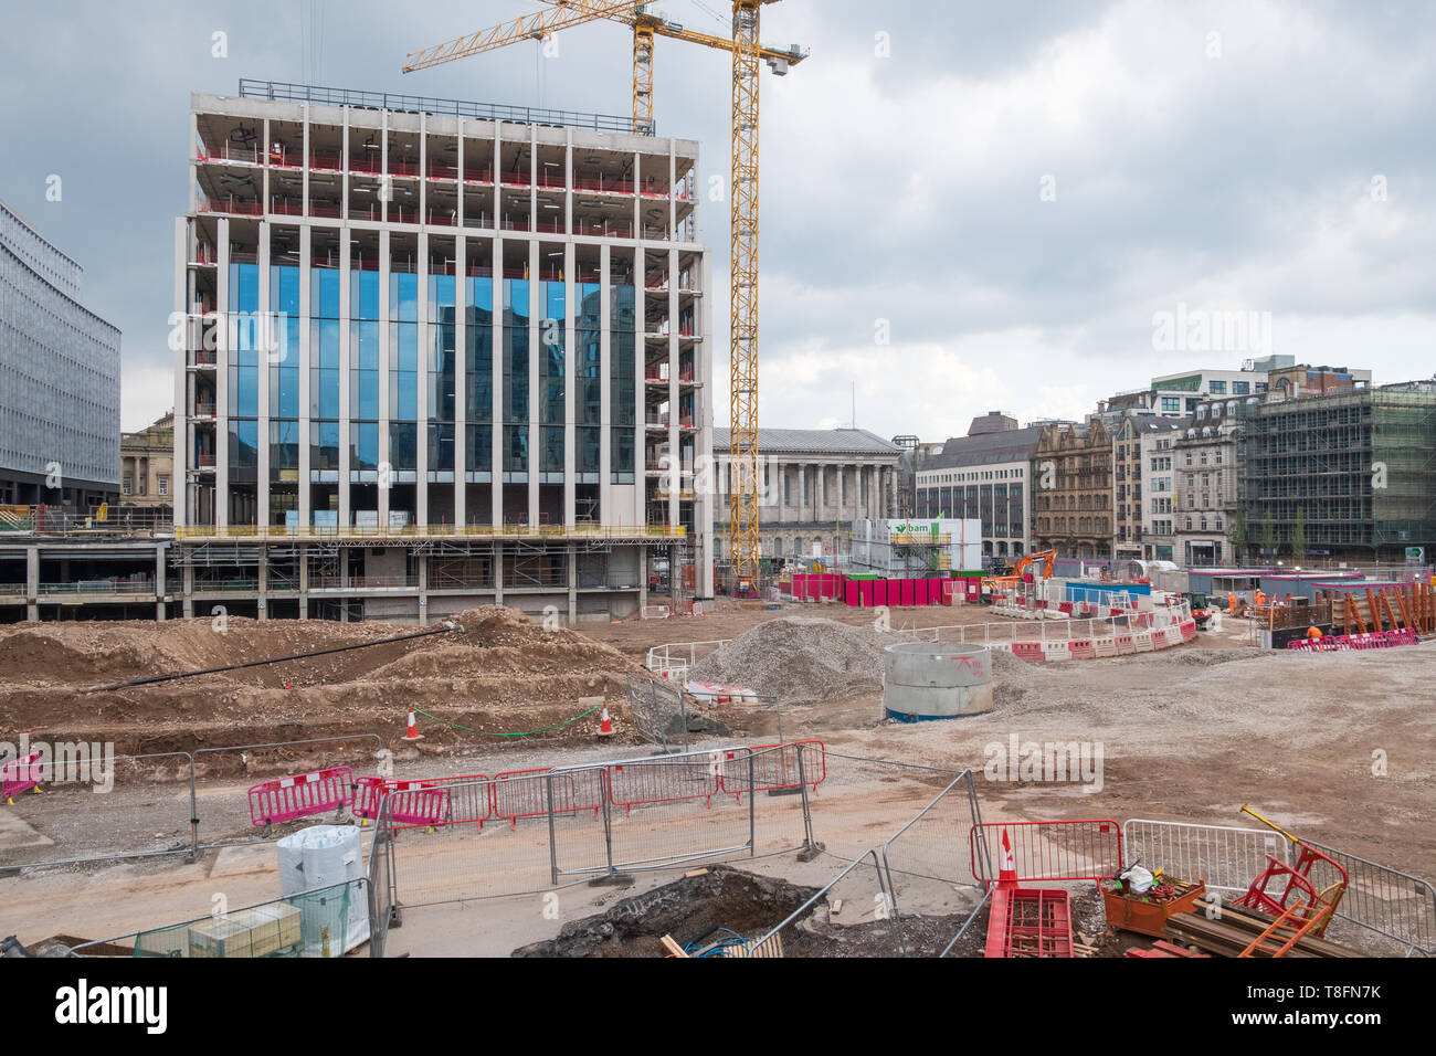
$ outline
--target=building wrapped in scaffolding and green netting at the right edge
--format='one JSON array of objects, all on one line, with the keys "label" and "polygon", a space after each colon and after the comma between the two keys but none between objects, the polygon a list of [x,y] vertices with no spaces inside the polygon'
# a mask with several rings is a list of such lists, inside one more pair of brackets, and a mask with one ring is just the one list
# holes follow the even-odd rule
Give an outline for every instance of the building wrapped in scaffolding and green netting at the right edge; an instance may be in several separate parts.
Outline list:
[{"label": "building wrapped in scaffolding and green netting at the right edge", "polygon": [[[1436,384],[1357,388],[1239,408],[1246,543],[1400,563],[1436,552]],[[1305,534],[1291,550],[1292,527]],[[1300,542],[1300,540],[1298,540]]]}]

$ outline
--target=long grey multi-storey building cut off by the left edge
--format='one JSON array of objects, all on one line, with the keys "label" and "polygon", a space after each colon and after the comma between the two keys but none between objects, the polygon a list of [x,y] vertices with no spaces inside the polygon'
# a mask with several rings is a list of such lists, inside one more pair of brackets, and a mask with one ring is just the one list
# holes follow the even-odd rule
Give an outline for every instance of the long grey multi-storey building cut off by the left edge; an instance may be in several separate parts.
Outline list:
[{"label": "long grey multi-storey building cut off by the left edge", "polygon": [[119,330],[80,277],[0,203],[0,506],[85,513],[119,493]]}]

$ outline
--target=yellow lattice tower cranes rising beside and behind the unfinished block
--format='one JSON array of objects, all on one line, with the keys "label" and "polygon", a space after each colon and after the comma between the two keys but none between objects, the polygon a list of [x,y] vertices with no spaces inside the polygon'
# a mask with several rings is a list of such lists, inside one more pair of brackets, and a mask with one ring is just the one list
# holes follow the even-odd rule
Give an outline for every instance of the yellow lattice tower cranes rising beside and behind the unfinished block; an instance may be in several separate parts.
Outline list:
[{"label": "yellow lattice tower cranes rising beside and behind the unfinished block", "polygon": [[728,557],[734,582],[758,570],[758,63],[778,76],[807,57],[797,46],[781,50],[758,40],[760,11],[777,0],[732,0],[732,39],[685,29],[651,14],[646,3],[543,0],[547,10],[455,37],[408,56],[405,73],[518,40],[543,40],[560,29],[597,19],[633,27],[633,131],[653,131],[653,37],[718,47],[732,53],[732,276],[729,295],[729,500]]}]

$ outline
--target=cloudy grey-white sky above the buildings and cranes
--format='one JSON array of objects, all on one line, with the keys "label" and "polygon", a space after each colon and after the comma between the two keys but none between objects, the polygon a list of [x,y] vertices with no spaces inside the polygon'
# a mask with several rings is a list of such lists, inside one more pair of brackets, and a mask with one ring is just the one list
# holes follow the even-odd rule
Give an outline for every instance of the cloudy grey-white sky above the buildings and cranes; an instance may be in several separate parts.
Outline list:
[{"label": "cloudy grey-white sky above the buildings and cranes", "polygon": [[[626,114],[629,32],[566,30],[402,75],[536,10],[6,3],[0,198],[85,267],[123,330],[123,427],[168,409],[174,217],[191,91],[240,78]],[[725,34],[724,0],[656,4]],[[707,9],[707,10],[705,10]],[[1436,371],[1436,4],[784,0],[763,39],[760,418],[942,440],[988,409],[1080,417],[1155,374],[1267,348],[1155,348],[1157,313],[1269,313],[1269,351]],[[214,33],[227,56],[214,57]],[[659,134],[727,181],[728,59],[656,47]],[[60,201],[46,200],[60,177]],[[712,249],[727,424],[727,204]],[[1231,318],[1231,316],[1226,316]],[[1261,329],[1258,328],[1258,330]]]}]

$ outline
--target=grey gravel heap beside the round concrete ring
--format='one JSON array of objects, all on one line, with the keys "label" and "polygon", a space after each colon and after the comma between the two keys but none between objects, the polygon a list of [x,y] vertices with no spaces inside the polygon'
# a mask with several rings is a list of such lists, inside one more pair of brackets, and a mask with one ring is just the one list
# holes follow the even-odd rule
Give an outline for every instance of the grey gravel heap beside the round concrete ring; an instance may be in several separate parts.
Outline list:
[{"label": "grey gravel heap beside the round concrete ring", "polygon": [[879,690],[883,648],[893,641],[833,619],[784,616],[705,657],[689,678],[744,685],[784,704],[843,701]]}]

